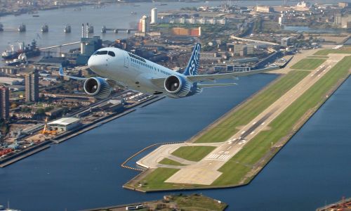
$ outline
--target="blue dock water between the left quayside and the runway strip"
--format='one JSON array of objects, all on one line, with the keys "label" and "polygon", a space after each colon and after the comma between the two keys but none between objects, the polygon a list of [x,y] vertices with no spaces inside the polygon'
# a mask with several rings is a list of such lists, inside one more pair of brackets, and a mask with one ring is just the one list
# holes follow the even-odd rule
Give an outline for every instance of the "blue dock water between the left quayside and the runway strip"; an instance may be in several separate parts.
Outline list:
[{"label": "blue dock water between the left quayside and the runway strip", "polygon": [[121,162],[152,143],[190,138],[275,77],[243,77],[237,87],[165,98],[0,169],[0,204],[10,199],[23,210],[79,210],[161,198],[164,193],[121,188],[137,174]]}]

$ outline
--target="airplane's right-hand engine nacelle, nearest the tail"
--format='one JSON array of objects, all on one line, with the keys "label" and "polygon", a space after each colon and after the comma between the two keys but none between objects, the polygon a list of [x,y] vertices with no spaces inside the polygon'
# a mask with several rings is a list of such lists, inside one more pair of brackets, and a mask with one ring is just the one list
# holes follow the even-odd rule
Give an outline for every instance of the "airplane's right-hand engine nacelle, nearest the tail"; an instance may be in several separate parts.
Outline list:
[{"label": "airplane's right-hand engine nacelle, nearest the tail", "polygon": [[184,77],[170,75],[164,80],[164,89],[173,96],[185,97],[192,91],[192,83]]}]

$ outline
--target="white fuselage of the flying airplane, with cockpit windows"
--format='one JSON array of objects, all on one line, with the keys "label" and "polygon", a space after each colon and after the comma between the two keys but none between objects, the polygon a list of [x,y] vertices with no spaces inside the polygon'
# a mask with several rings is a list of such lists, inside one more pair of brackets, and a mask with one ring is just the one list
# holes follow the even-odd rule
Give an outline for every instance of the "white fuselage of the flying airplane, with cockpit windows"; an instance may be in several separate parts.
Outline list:
[{"label": "white fuselage of the flying airplane, with cockpit windows", "polygon": [[88,60],[88,66],[93,72],[102,77],[112,79],[128,89],[146,94],[158,92],[166,94],[165,89],[155,86],[150,82],[150,79],[182,75],[179,72],[121,49],[109,47],[99,49],[97,52],[99,54],[94,53]]}]

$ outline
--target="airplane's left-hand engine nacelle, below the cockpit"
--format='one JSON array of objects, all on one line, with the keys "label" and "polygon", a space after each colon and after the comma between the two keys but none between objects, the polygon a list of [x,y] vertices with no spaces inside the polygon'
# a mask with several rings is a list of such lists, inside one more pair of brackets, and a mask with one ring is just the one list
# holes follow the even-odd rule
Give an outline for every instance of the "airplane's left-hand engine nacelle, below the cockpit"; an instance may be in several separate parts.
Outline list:
[{"label": "airplane's left-hand engine nacelle, below the cockpit", "polygon": [[107,98],[110,96],[112,88],[105,79],[100,77],[90,77],[84,82],[84,91],[86,94],[95,98]]}]

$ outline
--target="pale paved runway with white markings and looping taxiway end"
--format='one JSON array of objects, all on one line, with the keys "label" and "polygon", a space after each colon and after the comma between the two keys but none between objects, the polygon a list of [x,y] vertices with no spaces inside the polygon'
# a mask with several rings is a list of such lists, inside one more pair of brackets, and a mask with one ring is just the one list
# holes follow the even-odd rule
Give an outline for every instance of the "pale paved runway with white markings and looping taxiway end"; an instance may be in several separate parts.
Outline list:
[{"label": "pale paved runway with white markings and looping taxiway end", "polygon": [[[316,70],[305,70],[310,71],[310,74],[302,79],[295,87],[287,91],[281,98],[272,103],[267,109],[256,116],[249,124],[244,125],[240,128],[237,134],[230,137],[225,142],[220,143],[188,143],[188,145],[201,144],[202,146],[218,146],[211,153],[199,162],[189,162],[184,159],[173,159],[174,155],[171,155],[173,151],[176,151],[180,145],[169,145],[164,148],[157,148],[155,151],[147,155],[138,161],[138,164],[143,164],[144,167],[156,168],[156,167],[171,167],[180,169],[176,174],[169,177],[166,182],[176,184],[200,184],[200,185],[211,185],[213,181],[216,181],[222,174],[218,170],[222,167],[227,160],[230,160],[236,155],[256,134],[269,130],[267,127],[270,122],[277,118],[286,108],[288,108],[297,98],[310,89],[326,72],[329,72],[336,63],[338,63],[345,54],[329,54],[329,58]],[[289,65],[291,67],[291,65]],[[290,68],[286,72],[290,71]],[[282,70],[281,70],[282,71]],[[299,71],[299,70],[297,70]],[[186,143],[184,143],[186,144]],[[163,158],[169,158],[176,160],[185,166],[162,166],[159,162]]]}]

